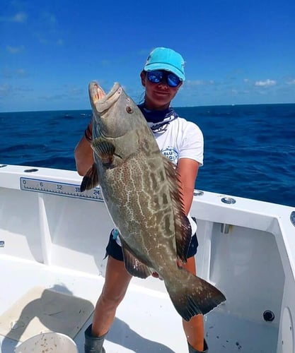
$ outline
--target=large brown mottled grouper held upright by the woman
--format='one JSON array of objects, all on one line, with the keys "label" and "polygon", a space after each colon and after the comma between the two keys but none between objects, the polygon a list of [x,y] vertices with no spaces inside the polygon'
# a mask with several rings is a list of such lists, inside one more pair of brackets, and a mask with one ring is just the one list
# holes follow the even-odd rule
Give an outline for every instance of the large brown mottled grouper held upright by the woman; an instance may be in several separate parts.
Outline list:
[{"label": "large brown mottled grouper held upright by the woman", "polygon": [[81,191],[98,184],[118,229],[127,271],[146,278],[158,273],[186,321],[226,298],[219,289],[182,268],[190,244],[178,174],[119,83],[105,92],[89,84],[93,110],[94,164]]}]

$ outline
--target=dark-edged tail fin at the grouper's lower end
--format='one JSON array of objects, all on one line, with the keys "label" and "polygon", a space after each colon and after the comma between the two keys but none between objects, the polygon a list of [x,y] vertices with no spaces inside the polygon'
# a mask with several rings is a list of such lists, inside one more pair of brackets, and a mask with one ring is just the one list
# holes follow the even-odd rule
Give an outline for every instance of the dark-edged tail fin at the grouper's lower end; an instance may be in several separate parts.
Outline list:
[{"label": "dark-edged tail fin at the grouper's lower end", "polygon": [[185,270],[178,268],[175,276],[165,282],[166,289],[176,311],[185,321],[192,316],[206,314],[226,300],[219,289]]}]

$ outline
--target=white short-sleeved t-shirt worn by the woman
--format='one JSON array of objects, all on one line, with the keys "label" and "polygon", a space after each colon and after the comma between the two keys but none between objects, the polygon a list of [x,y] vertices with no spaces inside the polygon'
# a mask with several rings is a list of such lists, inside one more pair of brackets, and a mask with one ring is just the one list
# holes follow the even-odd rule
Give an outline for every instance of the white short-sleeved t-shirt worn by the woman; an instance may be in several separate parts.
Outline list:
[{"label": "white short-sleeved t-shirt worn by the woman", "polygon": [[[157,126],[149,122],[148,124],[153,128]],[[180,158],[190,158],[196,160],[200,166],[203,165],[204,138],[202,131],[196,124],[178,117],[154,130],[153,133],[158,148],[173,164],[177,165]],[[192,220],[190,214],[187,215],[187,218],[190,220],[193,235],[197,232],[197,224]],[[121,245],[119,237],[116,241]]]}]

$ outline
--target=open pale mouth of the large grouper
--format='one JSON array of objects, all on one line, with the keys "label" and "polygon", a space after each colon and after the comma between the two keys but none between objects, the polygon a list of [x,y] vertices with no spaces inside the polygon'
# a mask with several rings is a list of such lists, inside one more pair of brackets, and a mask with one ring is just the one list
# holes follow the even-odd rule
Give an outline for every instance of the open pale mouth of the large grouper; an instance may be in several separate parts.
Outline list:
[{"label": "open pale mouth of the large grouper", "polygon": [[96,109],[100,116],[103,115],[104,112],[108,111],[112,104],[115,104],[119,99],[122,93],[122,87],[120,83],[115,82],[112,86],[112,89],[106,95],[103,88],[98,85],[95,81],[89,83],[89,97],[91,100],[91,105]]}]

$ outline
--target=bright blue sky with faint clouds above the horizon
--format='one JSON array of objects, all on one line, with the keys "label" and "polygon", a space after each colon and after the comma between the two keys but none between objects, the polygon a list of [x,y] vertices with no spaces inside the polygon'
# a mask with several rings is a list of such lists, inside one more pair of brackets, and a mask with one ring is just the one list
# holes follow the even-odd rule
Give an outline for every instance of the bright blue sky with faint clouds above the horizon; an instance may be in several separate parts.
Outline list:
[{"label": "bright blue sky with faint clouds above the horizon", "polygon": [[88,83],[136,101],[154,47],[185,59],[174,107],[295,103],[295,1],[1,1],[0,112],[90,109]]}]

